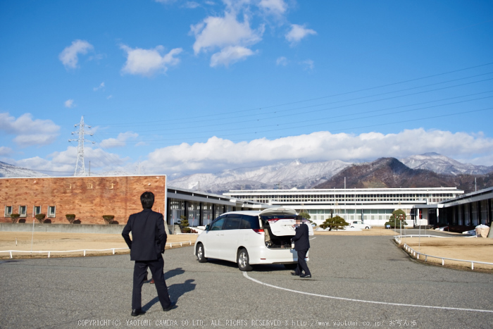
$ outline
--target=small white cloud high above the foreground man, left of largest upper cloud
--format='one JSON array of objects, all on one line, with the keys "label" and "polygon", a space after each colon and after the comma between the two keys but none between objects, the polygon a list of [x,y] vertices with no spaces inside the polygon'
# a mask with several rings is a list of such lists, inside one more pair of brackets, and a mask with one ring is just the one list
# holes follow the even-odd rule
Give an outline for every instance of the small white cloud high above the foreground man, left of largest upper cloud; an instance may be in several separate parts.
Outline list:
[{"label": "small white cloud high above the foreground man, left of largest upper cloud", "polygon": [[164,51],[163,46],[156,46],[154,49],[132,49],[122,45],[121,49],[127,53],[127,62],[122,68],[123,73],[150,76],[154,73],[166,73],[168,67],[176,66],[180,63],[179,58],[175,58],[183,49],[171,49],[168,54],[161,55]]}]

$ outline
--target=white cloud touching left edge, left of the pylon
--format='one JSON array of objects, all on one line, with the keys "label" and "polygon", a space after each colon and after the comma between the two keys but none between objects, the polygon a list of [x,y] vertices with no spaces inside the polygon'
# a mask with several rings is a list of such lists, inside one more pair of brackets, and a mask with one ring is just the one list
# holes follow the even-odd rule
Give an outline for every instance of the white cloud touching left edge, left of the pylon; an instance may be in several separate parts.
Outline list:
[{"label": "white cloud touching left edge, left of the pylon", "polygon": [[51,144],[59,130],[60,127],[51,120],[32,120],[30,113],[18,118],[0,113],[0,132],[16,135],[13,141],[20,147]]}]

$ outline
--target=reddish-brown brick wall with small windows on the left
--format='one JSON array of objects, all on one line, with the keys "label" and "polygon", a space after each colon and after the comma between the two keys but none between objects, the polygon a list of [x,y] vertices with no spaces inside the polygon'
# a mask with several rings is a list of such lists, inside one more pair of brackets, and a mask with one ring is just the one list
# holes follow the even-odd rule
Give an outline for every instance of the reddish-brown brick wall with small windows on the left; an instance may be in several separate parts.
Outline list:
[{"label": "reddish-brown brick wall with small windows on the left", "polygon": [[[103,215],[114,215],[115,221],[125,224],[128,216],[142,211],[140,195],[145,191],[154,193],[153,210],[163,213],[165,190],[165,175],[0,178],[0,221],[11,223],[4,217],[6,206],[12,206],[13,213],[27,206],[25,219],[32,223],[34,206],[41,206],[51,223],[68,224],[65,214],[75,213],[82,224],[105,224]],[[48,217],[49,206],[56,206],[54,218]]]}]

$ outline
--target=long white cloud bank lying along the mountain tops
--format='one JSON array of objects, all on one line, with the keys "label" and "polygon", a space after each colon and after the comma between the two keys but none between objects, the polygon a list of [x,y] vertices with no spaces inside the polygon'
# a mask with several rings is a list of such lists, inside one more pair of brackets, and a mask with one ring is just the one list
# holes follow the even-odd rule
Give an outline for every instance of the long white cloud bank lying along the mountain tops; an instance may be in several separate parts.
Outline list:
[{"label": "long white cloud bank lying along the mountain tops", "polygon": [[413,129],[397,134],[369,132],[361,135],[313,132],[310,135],[279,139],[232,142],[211,137],[205,143],[156,149],[149,154],[146,168],[163,173],[211,173],[225,168],[252,166],[276,161],[361,161],[392,156],[397,159],[435,151],[451,157],[489,157],[493,164],[493,139],[466,132]]}]

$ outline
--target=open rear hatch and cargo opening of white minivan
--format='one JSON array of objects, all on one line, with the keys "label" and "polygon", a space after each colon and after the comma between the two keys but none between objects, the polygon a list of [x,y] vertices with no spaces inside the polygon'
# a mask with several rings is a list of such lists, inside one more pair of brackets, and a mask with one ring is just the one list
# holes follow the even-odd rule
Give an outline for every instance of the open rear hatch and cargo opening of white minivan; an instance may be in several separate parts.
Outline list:
[{"label": "open rear hatch and cargo opening of white minivan", "polygon": [[291,238],[296,234],[292,225],[297,216],[294,209],[269,208],[260,213],[263,230],[266,233],[266,247],[291,249]]}]

